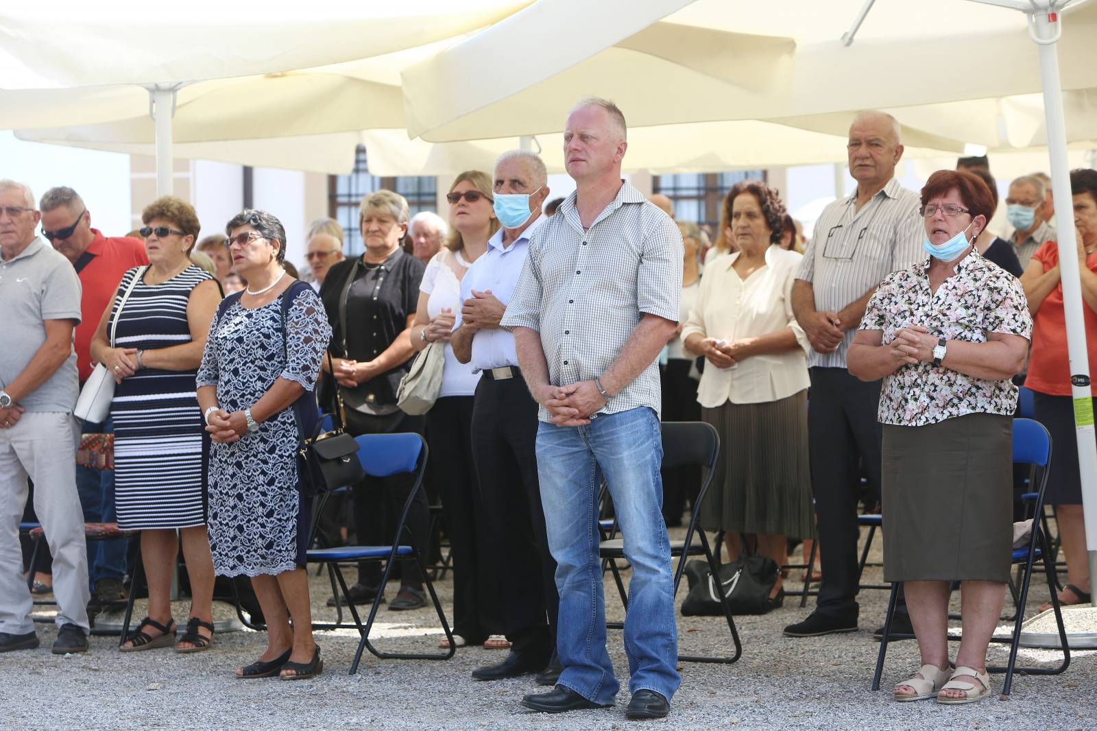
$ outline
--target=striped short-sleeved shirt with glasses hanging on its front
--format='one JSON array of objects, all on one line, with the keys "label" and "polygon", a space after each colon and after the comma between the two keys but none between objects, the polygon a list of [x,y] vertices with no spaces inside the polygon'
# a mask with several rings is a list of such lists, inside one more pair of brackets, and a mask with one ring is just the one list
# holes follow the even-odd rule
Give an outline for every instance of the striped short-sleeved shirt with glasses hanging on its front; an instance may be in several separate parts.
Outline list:
[{"label": "striped short-sleeved shirt with glasses hanging on its front", "polygon": [[[856,210],[857,193],[830,203],[818,221],[796,279],[812,283],[815,308],[838,312],[874,289],[884,277],[924,261],[926,228],[920,198],[892,178],[868,203]],[[846,351],[857,327],[846,331],[830,353],[812,350],[810,367],[846,368]]]}]

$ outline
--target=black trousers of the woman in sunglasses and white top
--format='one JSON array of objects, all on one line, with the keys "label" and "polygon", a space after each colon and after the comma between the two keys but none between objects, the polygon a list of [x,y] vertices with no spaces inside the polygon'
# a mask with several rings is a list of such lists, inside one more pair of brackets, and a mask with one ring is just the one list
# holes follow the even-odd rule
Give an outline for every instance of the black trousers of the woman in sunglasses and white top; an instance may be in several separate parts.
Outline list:
[{"label": "black trousers of the woman in sunglasses and white top", "polygon": [[453,633],[479,644],[502,631],[491,573],[491,524],[473,461],[473,396],[445,396],[427,412],[442,519],[453,559]]}]

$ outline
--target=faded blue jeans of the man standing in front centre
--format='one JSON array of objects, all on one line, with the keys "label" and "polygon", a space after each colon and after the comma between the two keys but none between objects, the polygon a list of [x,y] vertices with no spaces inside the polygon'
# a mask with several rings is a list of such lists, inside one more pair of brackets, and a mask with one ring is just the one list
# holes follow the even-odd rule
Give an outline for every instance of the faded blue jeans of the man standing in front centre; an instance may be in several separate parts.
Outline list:
[{"label": "faded blue jeans of the man standing in front centre", "polygon": [[606,604],[598,559],[598,490],[602,475],[632,564],[624,650],[629,690],[678,689],[670,542],[663,522],[663,439],[647,407],[596,416],[588,426],[538,427],[538,474],[548,548],[556,560],[559,684],[588,700],[612,704],[620,685],[606,650]]}]

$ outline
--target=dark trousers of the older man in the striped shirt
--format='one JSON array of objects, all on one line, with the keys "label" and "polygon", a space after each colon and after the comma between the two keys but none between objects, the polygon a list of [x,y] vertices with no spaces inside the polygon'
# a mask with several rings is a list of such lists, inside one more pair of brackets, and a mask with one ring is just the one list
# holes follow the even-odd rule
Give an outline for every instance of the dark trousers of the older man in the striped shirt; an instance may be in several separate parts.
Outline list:
[{"label": "dark trousers of the older man in the striped shirt", "polygon": [[857,465],[863,460],[870,495],[879,502],[880,381],[864,383],[845,368],[812,368],[811,378],[807,437],[823,570],[817,611],[856,621]]}]

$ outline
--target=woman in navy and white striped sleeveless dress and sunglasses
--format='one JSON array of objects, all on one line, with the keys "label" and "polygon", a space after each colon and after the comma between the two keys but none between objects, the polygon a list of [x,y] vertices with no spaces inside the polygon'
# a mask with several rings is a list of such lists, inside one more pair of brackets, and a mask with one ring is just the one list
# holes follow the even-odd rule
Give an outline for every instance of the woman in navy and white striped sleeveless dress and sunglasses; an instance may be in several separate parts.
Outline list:
[{"label": "woman in navy and white striped sleeveless dress and sunglasses", "polygon": [[[142,531],[148,578],[148,616],[122,651],[174,645],[199,652],[213,640],[214,574],[205,525],[208,441],[194,378],[220,285],[189,258],[201,227],[189,203],[160,198],[142,221],[149,266],[123,275],[91,344],[92,358],[117,381],[111,416],[118,527]],[[190,619],[178,644],[170,600],[177,530],[191,584]]]}]

